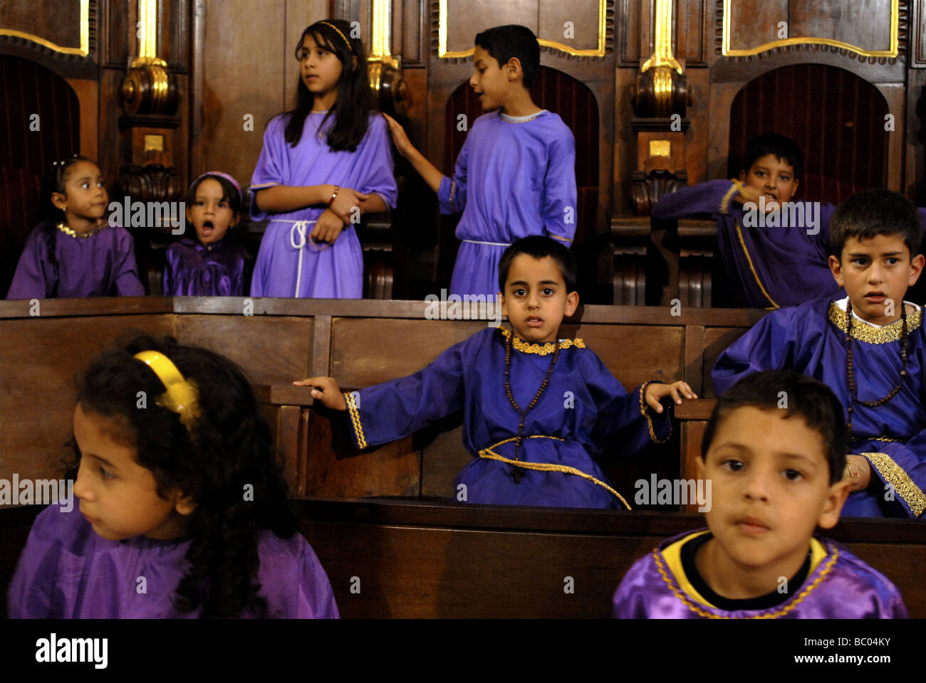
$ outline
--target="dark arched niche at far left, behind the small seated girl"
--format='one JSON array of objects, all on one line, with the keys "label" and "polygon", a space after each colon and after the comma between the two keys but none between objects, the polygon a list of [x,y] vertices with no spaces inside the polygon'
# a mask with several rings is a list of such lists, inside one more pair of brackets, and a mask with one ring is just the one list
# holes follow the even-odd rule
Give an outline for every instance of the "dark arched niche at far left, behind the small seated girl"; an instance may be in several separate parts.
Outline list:
[{"label": "dark arched niche at far left, behind the small seated girl", "polygon": [[[81,110],[68,81],[28,59],[0,55],[0,295],[35,225],[46,164],[80,152]],[[15,96],[14,96],[15,93]]]}]

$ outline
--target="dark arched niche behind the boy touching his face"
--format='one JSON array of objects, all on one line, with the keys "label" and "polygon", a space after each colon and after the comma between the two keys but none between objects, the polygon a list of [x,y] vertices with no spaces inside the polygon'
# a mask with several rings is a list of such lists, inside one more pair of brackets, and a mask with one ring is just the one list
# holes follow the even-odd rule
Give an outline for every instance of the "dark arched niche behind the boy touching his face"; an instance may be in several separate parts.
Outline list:
[{"label": "dark arched niche behind the boy touching his face", "polygon": [[823,64],[776,68],[733,99],[730,177],[739,177],[746,143],[774,130],[804,152],[795,198],[838,204],[860,190],[886,187],[887,114],[882,93],[850,71]]}]

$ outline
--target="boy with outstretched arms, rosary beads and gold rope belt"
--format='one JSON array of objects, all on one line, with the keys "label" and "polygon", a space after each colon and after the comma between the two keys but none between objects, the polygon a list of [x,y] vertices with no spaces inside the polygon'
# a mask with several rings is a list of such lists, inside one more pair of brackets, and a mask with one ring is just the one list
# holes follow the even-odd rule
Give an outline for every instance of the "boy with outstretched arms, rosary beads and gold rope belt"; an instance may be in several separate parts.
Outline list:
[{"label": "boy with outstretched arms, rosary beads and gold rope belt", "polygon": [[[576,265],[544,236],[507,248],[499,262],[502,312],[511,330],[483,329],[414,375],[355,394],[332,378],[294,382],[349,411],[358,448],[395,441],[463,409],[463,440],[473,460],[454,482],[468,503],[619,508],[627,502],[594,458],[608,441],[624,454],[669,438],[660,400],[696,398],[683,381],[646,382],[632,394],[581,339],[557,340],[575,313]],[[459,495],[462,493],[462,495]]]}]

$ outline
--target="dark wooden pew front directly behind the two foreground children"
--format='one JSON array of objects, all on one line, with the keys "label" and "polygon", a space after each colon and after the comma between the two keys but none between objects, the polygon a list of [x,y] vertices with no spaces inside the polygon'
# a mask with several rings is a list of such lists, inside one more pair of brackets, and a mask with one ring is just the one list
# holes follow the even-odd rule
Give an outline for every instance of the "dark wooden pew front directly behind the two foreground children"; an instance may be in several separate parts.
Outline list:
[{"label": "dark wooden pew front directly behind the two foreground children", "polygon": [[[345,618],[607,617],[634,561],[704,527],[700,515],[678,513],[321,498],[300,505],[303,533]],[[38,512],[0,510],[3,600]],[[911,617],[926,617],[920,522],[844,520],[826,536],[891,579]],[[5,602],[0,609],[6,615]]]}]

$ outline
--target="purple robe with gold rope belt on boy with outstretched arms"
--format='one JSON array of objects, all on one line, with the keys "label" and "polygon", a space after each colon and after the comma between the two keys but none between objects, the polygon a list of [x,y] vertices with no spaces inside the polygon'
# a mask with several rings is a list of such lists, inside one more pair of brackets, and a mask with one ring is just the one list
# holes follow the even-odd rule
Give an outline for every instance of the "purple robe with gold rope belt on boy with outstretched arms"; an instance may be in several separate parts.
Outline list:
[{"label": "purple robe with gold rope belt on boy with outstretched arms", "polygon": [[[621,456],[628,457],[650,442],[665,441],[671,431],[670,411],[657,415],[644,409],[645,385],[628,394],[582,340],[561,340],[557,365],[527,414],[516,456],[513,441],[520,416],[505,391],[510,334],[507,329],[483,329],[414,375],[359,391],[359,407],[357,397],[345,394],[357,447],[401,439],[462,408],[463,443],[473,459],[454,482],[457,500],[622,508],[595,459],[604,454],[608,441],[619,444]],[[544,380],[554,346],[516,340],[513,347],[511,391],[523,409]],[[499,457],[575,471],[531,469]],[[519,481],[512,476],[516,469]]]}]

